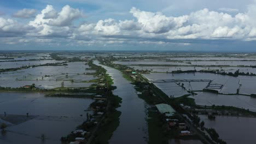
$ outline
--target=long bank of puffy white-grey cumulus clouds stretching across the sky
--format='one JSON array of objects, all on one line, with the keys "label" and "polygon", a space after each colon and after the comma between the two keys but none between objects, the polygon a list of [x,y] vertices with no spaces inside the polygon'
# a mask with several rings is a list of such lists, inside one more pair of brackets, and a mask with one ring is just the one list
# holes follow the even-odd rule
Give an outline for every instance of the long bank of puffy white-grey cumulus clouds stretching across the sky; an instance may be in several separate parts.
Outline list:
[{"label": "long bank of puffy white-grey cumulus clouds stretching across the sky", "polygon": [[79,44],[149,44],[152,41],[159,45],[176,42],[189,45],[207,40],[256,39],[255,4],[248,5],[245,13],[231,15],[224,13],[224,9],[220,11],[205,8],[187,15],[167,16],[133,7],[131,20],[107,18],[77,26],[74,21],[84,19],[81,10],[66,5],[57,11],[53,5],[47,5],[28,23],[1,18],[0,35],[25,35],[22,41],[39,37]]}]

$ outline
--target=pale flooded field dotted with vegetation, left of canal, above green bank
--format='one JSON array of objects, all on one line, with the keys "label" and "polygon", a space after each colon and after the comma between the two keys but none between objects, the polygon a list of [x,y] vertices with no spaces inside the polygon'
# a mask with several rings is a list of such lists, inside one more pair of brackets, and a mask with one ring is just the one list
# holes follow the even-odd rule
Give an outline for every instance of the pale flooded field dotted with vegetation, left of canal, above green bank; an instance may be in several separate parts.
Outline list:
[{"label": "pale flooded field dotted with vegetation, left of canal, above green bank", "polygon": [[62,66],[41,66],[0,74],[1,87],[21,87],[36,84],[39,88],[56,87],[89,87],[89,80],[96,79],[95,70],[88,70],[89,66],[84,62],[71,62]]}]

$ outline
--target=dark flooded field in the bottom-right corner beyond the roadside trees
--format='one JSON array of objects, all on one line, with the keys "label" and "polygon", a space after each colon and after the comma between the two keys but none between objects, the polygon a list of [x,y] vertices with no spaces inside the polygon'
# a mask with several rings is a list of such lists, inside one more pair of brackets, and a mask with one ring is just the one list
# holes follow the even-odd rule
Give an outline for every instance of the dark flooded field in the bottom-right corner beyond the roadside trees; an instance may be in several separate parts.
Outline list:
[{"label": "dark flooded field in the bottom-right corner beyond the roadside trees", "polygon": [[228,144],[256,143],[256,119],[251,117],[216,116],[210,121],[207,116],[199,115],[206,128],[214,128]]}]

